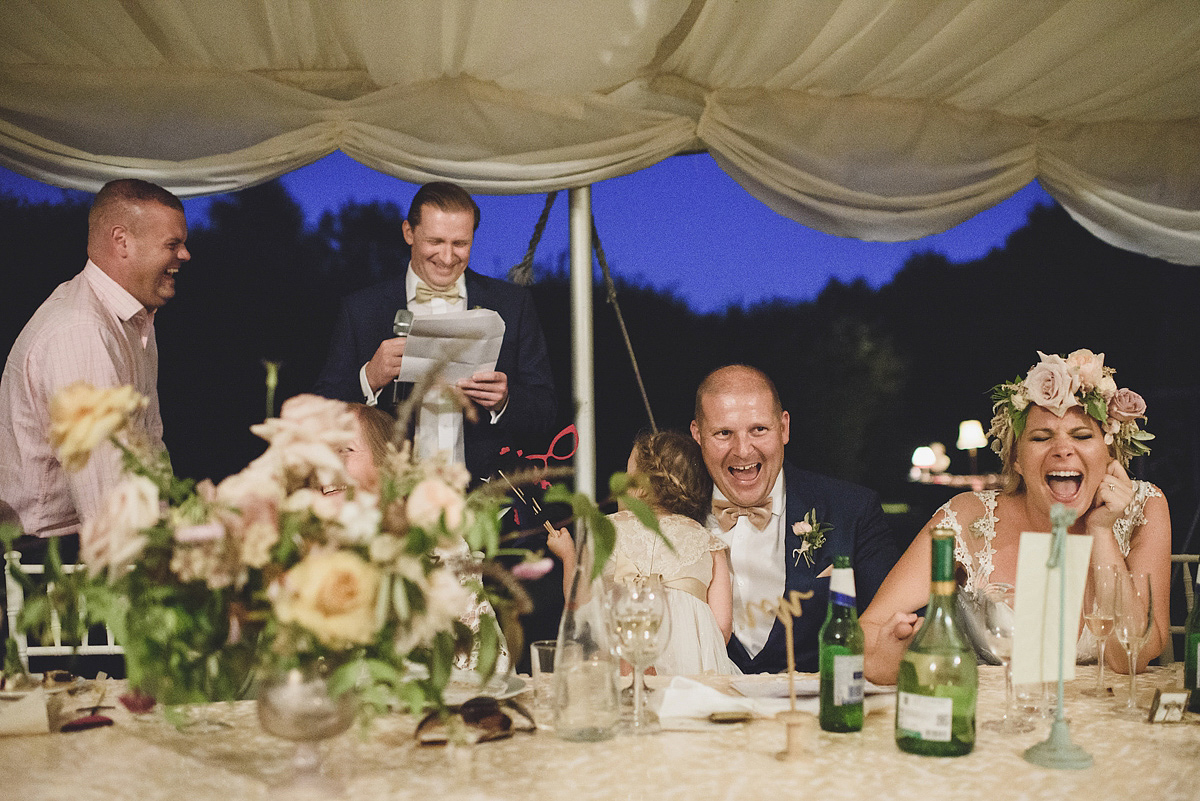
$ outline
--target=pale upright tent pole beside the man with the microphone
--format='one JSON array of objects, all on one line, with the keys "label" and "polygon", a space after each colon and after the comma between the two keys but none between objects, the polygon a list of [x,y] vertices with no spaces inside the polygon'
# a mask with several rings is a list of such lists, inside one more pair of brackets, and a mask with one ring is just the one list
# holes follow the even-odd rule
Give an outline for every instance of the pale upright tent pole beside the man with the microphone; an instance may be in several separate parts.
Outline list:
[{"label": "pale upright tent pole beside the man with the microphone", "polygon": [[595,375],[592,363],[592,187],[570,191],[571,392],[575,398],[575,490],[596,496]]}]

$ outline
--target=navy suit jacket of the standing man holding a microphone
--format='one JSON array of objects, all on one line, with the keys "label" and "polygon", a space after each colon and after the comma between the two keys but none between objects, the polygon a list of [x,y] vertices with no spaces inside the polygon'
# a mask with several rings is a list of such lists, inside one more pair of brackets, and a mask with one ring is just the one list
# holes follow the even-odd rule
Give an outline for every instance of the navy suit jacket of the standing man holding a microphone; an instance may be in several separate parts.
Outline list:
[{"label": "navy suit jacket of the standing man holding a microphone", "polygon": [[[480,410],[479,422],[463,421],[467,469],[475,478],[491,476],[500,450],[516,447],[515,434],[547,434],[554,423],[554,383],[546,338],[529,290],[467,270],[467,308],[490,308],[504,320],[504,339],[496,369],[509,378],[509,404],[493,426]],[[371,361],[379,343],[394,337],[396,309],[407,308],[404,273],[348,295],[342,301],[325,366],[313,391],[340,401],[362,401],[359,371]],[[412,390],[402,384],[401,399]],[[391,404],[384,387],[380,405]]]}]

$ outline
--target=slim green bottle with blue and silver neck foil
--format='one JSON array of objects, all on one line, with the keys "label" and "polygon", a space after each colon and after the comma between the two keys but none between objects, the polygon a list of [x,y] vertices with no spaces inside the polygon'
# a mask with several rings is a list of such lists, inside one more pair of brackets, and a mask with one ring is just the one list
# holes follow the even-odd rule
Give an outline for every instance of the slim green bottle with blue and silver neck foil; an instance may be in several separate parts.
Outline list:
[{"label": "slim green bottle with blue and silver neck foil", "polygon": [[854,571],[850,556],[834,556],[829,578],[829,612],[821,625],[821,728],[863,728],[863,627],[854,606]]}]

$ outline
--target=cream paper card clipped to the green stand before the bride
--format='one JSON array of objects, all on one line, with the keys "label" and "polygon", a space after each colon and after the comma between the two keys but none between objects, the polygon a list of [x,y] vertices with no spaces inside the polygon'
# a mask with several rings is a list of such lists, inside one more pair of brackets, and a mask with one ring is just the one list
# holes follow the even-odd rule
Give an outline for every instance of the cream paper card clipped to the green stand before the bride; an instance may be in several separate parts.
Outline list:
[{"label": "cream paper card clipped to the green stand before the bride", "polygon": [[1063,565],[1046,567],[1051,535],[1025,531],[1016,556],[1016,624],[1013,638],[1013,683],[1058,680],[1058,608],[1061,576],[1066,570],[1066,633],[1062,637],[1062,677],[1075,677],[1075,644],[1087,584],[1087,565],[1092,558],[1092,538],[1067,537]]}]

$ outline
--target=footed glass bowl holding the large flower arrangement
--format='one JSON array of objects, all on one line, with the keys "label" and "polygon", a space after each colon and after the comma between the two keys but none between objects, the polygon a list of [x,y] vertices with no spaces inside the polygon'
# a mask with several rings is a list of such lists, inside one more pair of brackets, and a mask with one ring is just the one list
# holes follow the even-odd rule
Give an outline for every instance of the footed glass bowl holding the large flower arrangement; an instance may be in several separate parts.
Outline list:
[{"label": "footed glass bowl holding the large flower arrangement", "polygon": [[268,675],[259,685],[259,724],[296,743],[293,773],[275,788],[282,797],[310,793],[337,797],[344,790],[341,782],[322,775],[320,742],[350,728],[358,699],[354,692],[332,695],[328,674],[324,661],[311,660]]}]

